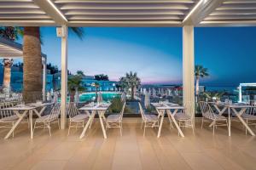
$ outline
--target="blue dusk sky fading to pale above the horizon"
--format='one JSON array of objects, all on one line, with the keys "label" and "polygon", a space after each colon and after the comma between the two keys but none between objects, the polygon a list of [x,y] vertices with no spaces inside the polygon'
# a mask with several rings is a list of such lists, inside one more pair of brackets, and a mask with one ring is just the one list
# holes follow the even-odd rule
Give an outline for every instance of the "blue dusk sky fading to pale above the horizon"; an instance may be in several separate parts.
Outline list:
[{"label": "blue dusk sky fading to pale above the horizon", "polygon": [[[41,28],[43,52],[61,65],[55,27]],[[182,28],[84,28],[84,41],[70,34],[68,69],[118,80],[137,71],[143,83],[182,82]],[[195,64],[208,68],[210,84],[256,82],[256,27],[195,28]]]}]

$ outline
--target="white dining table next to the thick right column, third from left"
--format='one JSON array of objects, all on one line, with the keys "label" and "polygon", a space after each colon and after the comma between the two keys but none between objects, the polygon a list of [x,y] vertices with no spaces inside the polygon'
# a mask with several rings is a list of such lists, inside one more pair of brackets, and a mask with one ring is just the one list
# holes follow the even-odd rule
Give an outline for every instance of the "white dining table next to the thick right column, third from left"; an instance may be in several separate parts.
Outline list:
[{"label": "white dining table next to the thick right column, third from left", "polygon": [[167,104],[160,104],[160,103],[151,103],[151,105],[154,106],[155,110],[158,113],[158,118],[160,118],[160,126],[158,129],[158,134],[157,134],[157,138],[160,138],[160,133],[161,133],[161,129],[163,126],[163,122],[164,122],[164,117],[165,114],[167,113],[167,116],[169,119],[172,119],[172,122],[174,122],[175,126],[177,127],[177,131],[179,132],[179,134],[184,137],[184,134],[181,130],[181,128],[178,126],[174,116],[177,114],[177,111],[183,110],[184,107],[177,105],[177,104],[172,104],[172,103],[167,103]]}]

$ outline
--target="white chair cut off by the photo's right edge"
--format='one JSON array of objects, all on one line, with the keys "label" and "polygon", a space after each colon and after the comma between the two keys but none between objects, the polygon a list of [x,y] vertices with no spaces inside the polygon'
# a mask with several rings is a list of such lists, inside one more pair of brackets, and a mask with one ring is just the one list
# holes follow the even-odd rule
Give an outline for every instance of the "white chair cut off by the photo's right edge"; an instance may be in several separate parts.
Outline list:
[{"label": "white chair cut off by the photo's right edge", "polygon": [[[245,120],[247,123],[247,126],[255,126],[256,125],[256,102],[253,101],[250,103],[253,107],[248,108],[247,111],[241,115],[241,118]],[[247,134],[247,128],[246,129],[246,134]]]}]

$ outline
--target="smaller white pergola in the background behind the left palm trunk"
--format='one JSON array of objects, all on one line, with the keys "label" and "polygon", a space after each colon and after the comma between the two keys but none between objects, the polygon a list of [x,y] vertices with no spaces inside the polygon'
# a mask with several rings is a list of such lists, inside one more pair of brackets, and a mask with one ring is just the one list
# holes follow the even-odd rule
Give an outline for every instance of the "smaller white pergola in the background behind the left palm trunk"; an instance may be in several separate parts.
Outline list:
[{"label": "smaller white pergola in the background behind the left palm trunk", "polygon": [[[8,39],[0,37],[0,59],[20,59],[23,58],[23,48],[18,42],[12,42]],[[45,100],[46,90],[46,61],[47,56],[42,54],[42,65],[43,65],[43,99]]]}]

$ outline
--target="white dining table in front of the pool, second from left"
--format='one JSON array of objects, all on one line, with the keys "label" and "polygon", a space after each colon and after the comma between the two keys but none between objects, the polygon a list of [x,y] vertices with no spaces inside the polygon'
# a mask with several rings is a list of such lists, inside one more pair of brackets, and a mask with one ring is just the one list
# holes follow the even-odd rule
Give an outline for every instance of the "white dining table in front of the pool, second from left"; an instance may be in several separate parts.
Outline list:
[{"label": "white dining table in front of the pool, second from left", "polygon": [[107,139],[106,128],[104,126],[103,120],[106,122],[105,113],[108,110],[108,107],[110,105],[111,104],[84,105],[83,107],[81,107],[79,109],[79,111],[85,111],[87,113],[87,115],[89,116],[89,120],[86,123],[86,125],[83,129],[83,132],[81,133],[81,135],[79,137],[80,139],[84,138],[84,135],[85,135],[88,127],[91,127],[96,113],[98,114],[100,122],[101,122],[103,137],[104,137],[104,139]]}]

